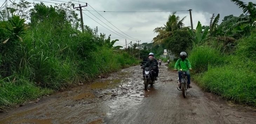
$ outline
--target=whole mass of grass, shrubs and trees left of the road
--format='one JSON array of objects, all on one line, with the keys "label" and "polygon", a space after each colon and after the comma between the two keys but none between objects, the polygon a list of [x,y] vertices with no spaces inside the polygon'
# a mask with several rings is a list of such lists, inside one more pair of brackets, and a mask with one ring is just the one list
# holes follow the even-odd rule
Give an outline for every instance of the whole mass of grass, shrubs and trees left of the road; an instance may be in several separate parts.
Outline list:
[{"label": "whole mass of grass, shrubs and trees left of the road", "polygon": [[[27,10],[30,3],[21,2]],[[35,4],[27,10],[29,24],[20,18],[27,11],[19,16],[8,8],[1,10],[1,108],[139,63],[125,50],[114,47],[118,40],[110,41],[110,35],[106,38],[88,26],[85,32],[78,30],[78,15],[72,9],[69,4]]]}]

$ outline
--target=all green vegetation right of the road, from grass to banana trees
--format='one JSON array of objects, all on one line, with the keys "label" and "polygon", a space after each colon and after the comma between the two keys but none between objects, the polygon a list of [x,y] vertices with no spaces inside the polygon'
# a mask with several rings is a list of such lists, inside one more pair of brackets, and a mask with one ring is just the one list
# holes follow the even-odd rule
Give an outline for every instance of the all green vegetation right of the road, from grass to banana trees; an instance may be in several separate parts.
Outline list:
[{"label": "all green vegetation right of the road, from grass to banana trees", "polygon": [[[194,69],[192,78],[201,88],[238,104],[256,106],[256,4],[231,1],[243,9],[243,14],[239,17],[225,16],[220,25],[220,14],[216,17],[213,14],[210,26],[202,26],[198,21],[196,30],[190,30],[193,45],[180,52],[188,53]],[[154,43],[166,45],[180,41],[182,37],[173,32],[163,35],[163,31],[158,31]],[[171,52],[178,53],[175,50]],[[174,65],[175,62],[170,63],[169,68],[173,69]]]}]

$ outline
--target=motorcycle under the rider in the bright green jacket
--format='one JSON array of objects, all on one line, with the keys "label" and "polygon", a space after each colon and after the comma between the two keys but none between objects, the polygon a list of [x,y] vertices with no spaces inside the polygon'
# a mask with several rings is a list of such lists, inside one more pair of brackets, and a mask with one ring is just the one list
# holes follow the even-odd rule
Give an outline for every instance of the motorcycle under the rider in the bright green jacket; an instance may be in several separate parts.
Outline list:
[{"label": "motorcycle under the rider in the bright green jacket", "polygon": [[185,75],[185,72],[180,70],[182,72],[182,78],[181,78],[181,82],[178,80],[178,83],[181,84],[180,85],[180,89],[177,87],[178,90],[182,91],[182,95],[184,98],[186,98],[186,91],[188,89],[188,79],[187,76]]}]

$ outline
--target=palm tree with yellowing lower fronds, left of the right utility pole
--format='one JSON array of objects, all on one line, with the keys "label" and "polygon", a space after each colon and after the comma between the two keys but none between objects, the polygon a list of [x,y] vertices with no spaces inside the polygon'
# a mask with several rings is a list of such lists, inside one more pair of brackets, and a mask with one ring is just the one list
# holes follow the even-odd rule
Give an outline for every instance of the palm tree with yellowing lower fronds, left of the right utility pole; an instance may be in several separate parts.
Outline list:
[{"label": "palm tree with yellowing lower fronds, left of the right utility pole", "polygon": [[163,43],[171,36],[174,30],[188,29],[188,27],[184,27],[185,24],[183,23],[186,16],[180,20],[180,16],[176,16],[175,14],[176,12],[173,12],[172,15],[169,15],[168,21],[164,24],[164,27],[157,27],[154,29],[154,32],[158,34],[153,38],[154,44]]}]

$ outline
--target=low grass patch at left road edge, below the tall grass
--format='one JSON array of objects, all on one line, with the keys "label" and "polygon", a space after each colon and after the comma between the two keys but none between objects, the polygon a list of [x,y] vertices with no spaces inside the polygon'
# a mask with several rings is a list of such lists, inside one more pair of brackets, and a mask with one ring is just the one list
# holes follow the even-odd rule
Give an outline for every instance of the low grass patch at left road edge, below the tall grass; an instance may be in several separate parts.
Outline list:
[{"label": "low grass patch at left road edge, below the tall grass", "polygon": [[41,88],[26,79],[16,81],[0,80],[0,108],[6,108],[25,101],[34,100],[54,92],[49,88]]}]

